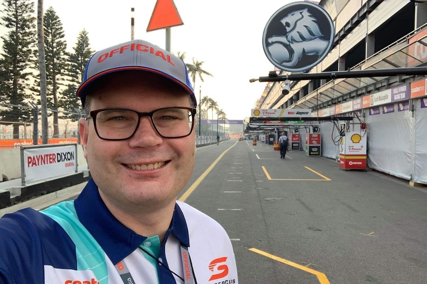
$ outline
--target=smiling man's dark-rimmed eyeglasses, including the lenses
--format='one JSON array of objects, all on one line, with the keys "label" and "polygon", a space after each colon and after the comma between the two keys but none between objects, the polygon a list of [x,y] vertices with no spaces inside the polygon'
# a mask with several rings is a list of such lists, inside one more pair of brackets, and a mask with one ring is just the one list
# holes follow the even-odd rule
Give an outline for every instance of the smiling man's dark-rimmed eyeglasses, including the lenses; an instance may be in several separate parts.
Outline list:
[{"label": "smiling man's dark-rimmed eyeglasses, including the lenses", "polygon": [[103,140],[126,140],[138,129],[141,117],[150,117],[154,129],[163,138],[181,138],[190,135],[194,127],[196,109],[168,107],[149,113],[130,109],[100,109],[90,112],[95,131]]}]

